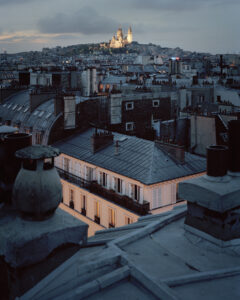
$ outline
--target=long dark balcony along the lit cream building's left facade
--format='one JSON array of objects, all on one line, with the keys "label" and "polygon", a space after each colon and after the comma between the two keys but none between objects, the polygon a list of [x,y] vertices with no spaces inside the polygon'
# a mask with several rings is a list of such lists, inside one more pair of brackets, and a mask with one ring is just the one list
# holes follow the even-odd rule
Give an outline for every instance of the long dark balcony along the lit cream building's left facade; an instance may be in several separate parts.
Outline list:
[{"label": "long dark balcony along the lit cream building's left facade", "polygon": [[105,198],[123,208],[127,208],[140,216],[144,216],[149,212],[149,202],[145,200],[143,201],[143,204],[141,204],[126,195],[119,195],[114,190],[108,190],[102,187],[96,181],[87,181],[62,169],[56,169],[58,170],[59,176],[62,179],[85,188],[91,193],[101,196],[102,198]]}]

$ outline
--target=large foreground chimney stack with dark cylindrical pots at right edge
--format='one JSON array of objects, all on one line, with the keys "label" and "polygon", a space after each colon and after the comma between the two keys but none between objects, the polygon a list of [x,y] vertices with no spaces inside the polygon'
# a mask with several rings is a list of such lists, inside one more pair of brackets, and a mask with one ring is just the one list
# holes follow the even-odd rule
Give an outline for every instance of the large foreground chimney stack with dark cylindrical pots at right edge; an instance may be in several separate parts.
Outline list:
[{"label": "large foreground chimney stack with dark cylindrical pots at right edge", "polygon": [[229,150],[207,148],[207,174],[181,182],[179,195],[187,200],[185,229],[218,246],[240,245],[240,122],[229,122]]}]

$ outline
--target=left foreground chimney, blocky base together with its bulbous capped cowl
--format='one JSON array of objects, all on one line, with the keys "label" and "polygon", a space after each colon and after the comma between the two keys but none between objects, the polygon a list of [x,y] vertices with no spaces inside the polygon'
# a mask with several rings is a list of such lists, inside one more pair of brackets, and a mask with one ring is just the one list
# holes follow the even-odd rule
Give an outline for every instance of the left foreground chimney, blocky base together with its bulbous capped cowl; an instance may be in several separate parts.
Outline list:
[{"label": "left foreground chimney, blocky base together with its bulbous capped cowl", "polygon": [[55,148],[34,145],[18,150],[22,160],[13,204],[0,206],[0,282],[2,299],[19,299],[74,255],[87,240],[88,225],[58,207],[60,177]]}]

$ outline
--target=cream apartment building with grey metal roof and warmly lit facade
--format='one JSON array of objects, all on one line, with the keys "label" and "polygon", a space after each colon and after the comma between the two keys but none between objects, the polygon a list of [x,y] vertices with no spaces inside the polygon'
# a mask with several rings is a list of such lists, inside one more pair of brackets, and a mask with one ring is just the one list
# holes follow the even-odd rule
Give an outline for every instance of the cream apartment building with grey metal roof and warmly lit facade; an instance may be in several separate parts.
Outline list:
[{"label": "cream apartment building with grey metal roof and warmly lit facade", "polygon": [[63,203],[90,232],[136,222],[178,201],[178,182],[201,175],[204,158],[119,133],[89,129],[54,144]]}]

